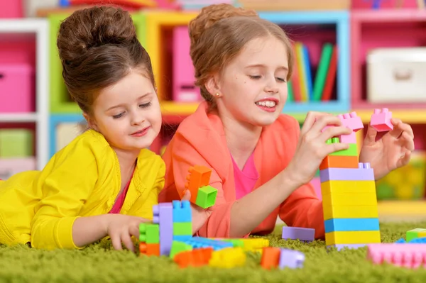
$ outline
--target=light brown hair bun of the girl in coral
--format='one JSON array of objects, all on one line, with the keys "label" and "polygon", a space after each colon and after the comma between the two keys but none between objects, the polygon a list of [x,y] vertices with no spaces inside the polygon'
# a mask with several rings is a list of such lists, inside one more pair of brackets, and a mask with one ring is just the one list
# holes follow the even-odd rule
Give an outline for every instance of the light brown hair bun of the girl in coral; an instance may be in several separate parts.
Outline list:
[{"label": "light brown hair bun of the girl in coral", "polygon": [[258,14],[254,10],[237,8],[231,4],[205,6],[202,8],[200,14],[190,21],[191,44],[197,43],[204,30],[213,26],[217,21],[235,16],[258,17]]}]

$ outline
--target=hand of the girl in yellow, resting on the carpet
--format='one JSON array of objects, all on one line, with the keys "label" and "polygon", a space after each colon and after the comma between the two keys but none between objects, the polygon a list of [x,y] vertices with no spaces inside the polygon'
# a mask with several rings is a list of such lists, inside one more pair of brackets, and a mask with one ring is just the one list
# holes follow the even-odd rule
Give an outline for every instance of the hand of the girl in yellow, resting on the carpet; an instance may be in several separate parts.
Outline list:
[{"label": "hand of the girl in yellow, resting on the carpet", "polygon": [[135,247],[131,236],[139,238],[139,224],[150,221],[145,218],[123,214],[108,214],[108,216],[106,229],[114,249],[122,250],[121,243],[124,243],[126,248],[134,252]]}]

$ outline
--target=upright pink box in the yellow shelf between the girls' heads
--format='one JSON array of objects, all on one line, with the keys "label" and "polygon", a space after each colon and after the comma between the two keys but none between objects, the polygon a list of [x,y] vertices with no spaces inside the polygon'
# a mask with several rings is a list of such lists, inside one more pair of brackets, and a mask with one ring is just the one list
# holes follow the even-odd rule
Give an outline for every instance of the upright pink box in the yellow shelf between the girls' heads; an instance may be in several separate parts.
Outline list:
[{"label": "upright pink box in the yellow shelf between the girls' heads", "polygon": [[200,88],[195,87],[195,72],[190,57],[190,35],[186,26],[173,30],[173,101],[200,101]]}]

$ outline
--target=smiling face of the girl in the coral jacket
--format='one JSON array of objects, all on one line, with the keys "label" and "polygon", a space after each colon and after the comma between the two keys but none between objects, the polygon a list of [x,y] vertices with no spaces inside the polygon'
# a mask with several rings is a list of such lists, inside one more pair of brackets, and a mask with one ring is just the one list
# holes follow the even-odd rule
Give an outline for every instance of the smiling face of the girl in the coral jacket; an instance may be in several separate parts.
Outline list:
[{"label": "smiling face of the girl in the coral jacket", "polygon": [[287,99],[287,74],[284,43],[272,36],[249,41],[217,81],[222,118],[252,126],[273,123]]}]

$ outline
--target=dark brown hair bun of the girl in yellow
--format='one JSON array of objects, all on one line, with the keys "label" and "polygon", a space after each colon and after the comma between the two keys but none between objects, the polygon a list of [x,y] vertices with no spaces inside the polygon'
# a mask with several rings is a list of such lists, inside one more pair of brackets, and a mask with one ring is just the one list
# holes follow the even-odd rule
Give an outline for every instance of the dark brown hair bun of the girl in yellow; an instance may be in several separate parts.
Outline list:
[{"label": "dark brown hair bun of the girl in yellow", "polygon": [[75,62],[91,48],[134,40],[136,30],[129,12],[101,6],[75,11],[66,18],[60,25],[57,44],[61,60]]}]

